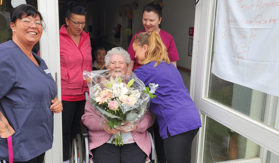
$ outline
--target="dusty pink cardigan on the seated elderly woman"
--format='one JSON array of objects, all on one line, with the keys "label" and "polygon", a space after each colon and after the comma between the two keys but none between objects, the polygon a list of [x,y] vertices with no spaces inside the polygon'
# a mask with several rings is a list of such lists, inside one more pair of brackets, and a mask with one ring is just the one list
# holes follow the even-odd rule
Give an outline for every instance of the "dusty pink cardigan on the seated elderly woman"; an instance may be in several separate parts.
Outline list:
[{"label": "dusty pink cardigan on the seated elderly woman", "polygon": [[[81,117],[81,120],[88,128],[89,151],[103,145],[112,136],[112,134],[105,132],[100,126],[99,123],[103,121],[102,118],[100,116],[94,117],[89,97],[86,101],[84,115]],[[145,118],[137,125],[137,130],[131,132],[134,141],[136,141],[136,144],[141,148],[141,150],[143,150],[143,152],[146,153],[147,158],[151,153],[151,142],[147,129],[152,126],[154,121],[155,116],[149,110],[146,112]],[[89,153],[90,155],[93,155],[91,151]]]}]

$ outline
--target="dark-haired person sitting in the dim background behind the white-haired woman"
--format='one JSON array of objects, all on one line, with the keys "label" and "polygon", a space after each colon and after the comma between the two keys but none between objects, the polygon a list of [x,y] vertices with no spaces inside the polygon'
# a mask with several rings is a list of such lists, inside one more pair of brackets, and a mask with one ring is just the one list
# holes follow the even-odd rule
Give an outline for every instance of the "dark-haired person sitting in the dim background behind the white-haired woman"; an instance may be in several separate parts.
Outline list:
[{"label": "dark-haired person sitting in the dim background behind the white-haired woman", "polygon": [[100,46],[94,51],[94,56],[96,60],[93,62],[92,70],[102,70],[105,69],[105,55],[107,55],[107,51],[104,47]]}]

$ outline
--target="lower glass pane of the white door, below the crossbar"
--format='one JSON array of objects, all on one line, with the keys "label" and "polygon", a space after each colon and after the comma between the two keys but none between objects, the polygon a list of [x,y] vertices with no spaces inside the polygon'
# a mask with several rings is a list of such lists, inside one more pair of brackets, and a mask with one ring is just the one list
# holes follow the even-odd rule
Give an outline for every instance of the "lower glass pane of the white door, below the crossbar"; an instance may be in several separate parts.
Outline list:
[{"label": "lower glass pane of the white door, below the crossbar", "polygon": [[206,117],[203,162],[258,158],[259,145]]}]

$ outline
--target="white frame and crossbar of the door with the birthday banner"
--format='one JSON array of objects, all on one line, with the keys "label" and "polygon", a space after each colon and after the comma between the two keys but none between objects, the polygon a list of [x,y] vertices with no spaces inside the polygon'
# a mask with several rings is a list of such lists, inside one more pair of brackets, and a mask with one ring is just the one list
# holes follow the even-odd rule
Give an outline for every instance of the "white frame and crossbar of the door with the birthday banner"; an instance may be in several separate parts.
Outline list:
[{"label": "white frame and crossbar of the door with the birthday banner", "polygon": [[[215,10],[216,0],[201,0],[196,5],[190,95],[201,113],[279,155],[278,130],[207,98],[211,61],[209,54],[212,50]],[[202,155],[203,134],[204,132],[199,132],[197,162],[200,160],[199,156]]]}]

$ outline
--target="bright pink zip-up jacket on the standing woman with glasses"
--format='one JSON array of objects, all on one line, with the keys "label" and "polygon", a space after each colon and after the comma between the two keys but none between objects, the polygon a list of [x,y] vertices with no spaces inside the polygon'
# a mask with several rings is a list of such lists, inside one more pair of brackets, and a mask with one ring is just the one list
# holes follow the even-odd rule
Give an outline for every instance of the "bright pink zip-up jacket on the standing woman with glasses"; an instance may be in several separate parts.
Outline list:
[{"label": "bright pink zip-up jacket on the standing woman with glasses", "polygon": [[82,73],[83,70],[92,70],[90,37],[84,31],[80,35],[80,42],[76,46],[67,34],[65,24],[59,31],[62,95],[81,95],[89,91]]}]

